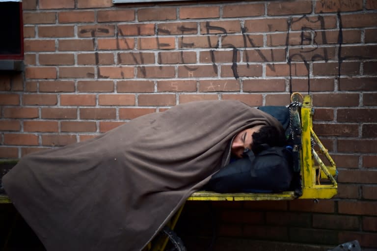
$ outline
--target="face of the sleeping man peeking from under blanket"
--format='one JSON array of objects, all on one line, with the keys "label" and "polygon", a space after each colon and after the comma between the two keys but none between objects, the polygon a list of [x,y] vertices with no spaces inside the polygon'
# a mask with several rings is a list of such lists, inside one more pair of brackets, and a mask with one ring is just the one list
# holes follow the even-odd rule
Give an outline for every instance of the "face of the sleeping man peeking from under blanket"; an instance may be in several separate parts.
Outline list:
[{"label": "face of the sleeping man peeking from under blanket", "polygon": [[254,126],[252,128],[245,129],[239,132],[236,137],[234,137],[232,142],[232,154],[237,158],[242,158],[243,151],[248,148],[251,149],[253,143],[252,135],[258,132],[263,125]]}]

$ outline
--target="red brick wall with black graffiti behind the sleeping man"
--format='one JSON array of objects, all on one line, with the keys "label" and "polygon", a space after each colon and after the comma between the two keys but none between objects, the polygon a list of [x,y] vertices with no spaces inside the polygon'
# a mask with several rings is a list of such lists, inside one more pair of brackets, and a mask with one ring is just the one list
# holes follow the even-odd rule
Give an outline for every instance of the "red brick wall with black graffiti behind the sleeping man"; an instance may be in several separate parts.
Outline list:
[{"label": "red brick wall with black graffiti behind the sleeping man", "polygon": [[215,203],[218,234],[377,248],[376,0],[24,0],[23,8],[26,69],[0,73],[0,158],[193,100],[286,105],[291,84],[301,93],[309,84],[339,194],[318,204]]}]

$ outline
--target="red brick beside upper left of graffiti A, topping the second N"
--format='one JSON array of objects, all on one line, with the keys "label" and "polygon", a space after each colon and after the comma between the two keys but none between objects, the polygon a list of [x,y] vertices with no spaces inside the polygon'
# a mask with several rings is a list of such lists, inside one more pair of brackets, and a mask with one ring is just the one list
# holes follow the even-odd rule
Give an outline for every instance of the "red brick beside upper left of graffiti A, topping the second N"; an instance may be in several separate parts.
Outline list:
[{"label": "red brick beside upper left of graffiti A, topping the second N", "polygon": [[244,27],[247,32],[287,31],[286,18],[248,19]]}]

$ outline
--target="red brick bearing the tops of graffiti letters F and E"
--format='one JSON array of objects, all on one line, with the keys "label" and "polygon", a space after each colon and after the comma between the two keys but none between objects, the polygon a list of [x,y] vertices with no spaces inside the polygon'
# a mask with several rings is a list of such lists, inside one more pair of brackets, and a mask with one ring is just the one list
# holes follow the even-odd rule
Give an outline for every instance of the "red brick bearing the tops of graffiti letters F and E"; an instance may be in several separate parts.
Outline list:
[{"label": "red brick bearing the tops of graffiti letters F and E", "polygon": [[197,34],[198,28],[196,22],[161,23],[157,24],[157,32],[159,35]]}]

